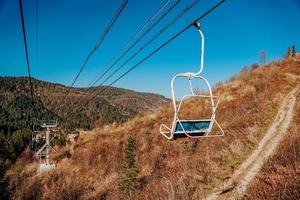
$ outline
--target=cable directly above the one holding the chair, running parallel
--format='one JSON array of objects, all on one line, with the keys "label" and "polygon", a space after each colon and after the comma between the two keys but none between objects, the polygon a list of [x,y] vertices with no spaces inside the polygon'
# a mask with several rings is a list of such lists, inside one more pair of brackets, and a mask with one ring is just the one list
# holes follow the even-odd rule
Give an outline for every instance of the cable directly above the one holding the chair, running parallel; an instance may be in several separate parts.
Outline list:
[{"label": "cable directly above the one holding the chair, running parallel", "polygon": [[99,85],[106,83],[111,77],[113,77],[118,71],[120,71],[127,63],[129,63],[133,58],[136,57],[141,51],[143,51],[149,44],[151,44],[156,38],[158,38],[162,33],[164,33],[170,26],[172,26],[177,20],[179,20],[184,14],[186,14],[190,9],[192,9],[200,0],[194,0],[189,5],[187,5],[178,15],[176,15],[168,24],[166,24],[162,29],[160,29],[148,42],[146,42],[142,47],[140,47],[131,57],[129,57],[121,66],[115,69],[104,81]]}]

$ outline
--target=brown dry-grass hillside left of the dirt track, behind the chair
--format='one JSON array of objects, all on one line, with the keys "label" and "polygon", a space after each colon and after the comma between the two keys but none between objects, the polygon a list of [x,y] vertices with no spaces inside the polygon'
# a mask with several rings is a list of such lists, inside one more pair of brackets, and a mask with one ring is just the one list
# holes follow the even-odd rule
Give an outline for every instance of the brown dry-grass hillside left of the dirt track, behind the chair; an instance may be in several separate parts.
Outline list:
[{"label": "brown dry-grass hillside left of the dirt track, behind the chair", "polygon": [[[280,101],[300,83],[299,78],[300,62],[279,61],[265,67],[244,68],[226,83],[217,84],[214,94],[220,99],[217,120],[225,131],[222,138],[165,140],[158,130],[161,123],[171,123],[170,105],[119,126],[81,133],[72,151],[69,146],[56,147],[57,168],[49,173],[37,176],[37,162],[29,150],[25,151],[7,173],[11,197],[205,198],[257,147],[275,118]],[[189,99],[182,115],[204,116],[208,108],[203,105],[197,99]],[[290,186],[296,187],[286,187]]]}]

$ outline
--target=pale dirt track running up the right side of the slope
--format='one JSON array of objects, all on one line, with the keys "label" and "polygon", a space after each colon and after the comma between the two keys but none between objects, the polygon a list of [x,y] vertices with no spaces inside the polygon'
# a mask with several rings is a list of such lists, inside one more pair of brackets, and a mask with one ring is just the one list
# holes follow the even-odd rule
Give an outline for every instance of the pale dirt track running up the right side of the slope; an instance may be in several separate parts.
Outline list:
[{"label": "pale dirt track running up the right side of the slope", "polygon": [[281,102],[277,116],[271,127],[260,141],[257,149],[244,161],[233,176],[220,188],[217,188],[205,199],[240,199],[247,186],[264,164],[264,161],[275,151],[277,145],[287,133],[293,119],[298,87],[293,89]]}]

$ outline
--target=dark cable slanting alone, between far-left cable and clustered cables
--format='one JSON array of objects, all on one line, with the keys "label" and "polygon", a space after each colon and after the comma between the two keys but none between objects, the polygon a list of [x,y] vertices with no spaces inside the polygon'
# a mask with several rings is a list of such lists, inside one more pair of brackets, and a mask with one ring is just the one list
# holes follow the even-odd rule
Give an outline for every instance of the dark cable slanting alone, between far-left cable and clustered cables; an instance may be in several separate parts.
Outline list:
[{"label": "dark cable slanting alone, between far-left cable and clustered cables", "polygon": [[[117,21],[117,19],[119,18],[120,14],[122,13],[122,11],[124,10],[125,6],[127,5],[128,0],[124,0],[122,2],[122,4],[120,5],[119,9],[117,10],[117,12],[114,14],[114,16],[112,17],[112,19],[110,20],[108,26],[105,28],[104,32],[102,33],[102,35],[100,36],[100,38],[98,39],[96,45],[94,46],[94,48],[92,49],[92,51],[88,54],[88,56],[86,57],[85,61],[83,62],[83,65],[81,66],[79,72],[77,73],[75,79],[73,80],[69,91],[67,92],[66,96],[69,94],[71,88],[74,86],[74,84],[76,83],[77,79],[79,78],[80,74],[82,73],[83,69],[85,68],[87,62],[89,61],[90,57],[95,53],[95,51],[99,48],[99,46],[102,44],[102,42],[104,41],[105,37],[107,36],[107,34],[109,33],[110,29],[113,27],[113,25],[115,24],[115,22]],[[65,97],[66,97],[65,96]]]}]

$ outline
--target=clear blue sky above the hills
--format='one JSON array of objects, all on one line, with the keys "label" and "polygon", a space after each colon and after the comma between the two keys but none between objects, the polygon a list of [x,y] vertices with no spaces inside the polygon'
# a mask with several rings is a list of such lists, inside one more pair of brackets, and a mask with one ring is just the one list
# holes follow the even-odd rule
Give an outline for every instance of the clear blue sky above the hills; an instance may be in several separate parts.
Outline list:
[{"label": "clear blue sky above the hills", "polygon": [[[174,1],[174,0],[173,0]],[[125,11],[76,83],[86,86],[164,0],[129,0]],[[155,34],[190,0],[182,0],[147,38]],[[216,0],[201,0],[187,15],[161,35],[132,66],[181,27],[200,16]],[[35,0],[23,0],[32,75],[70,85],[121,0],[39,0],[38,59],[36,57]],[[0,75],[26,76],[17,0],[0,0]],[[212,84],[225,81],[243,66],[259,62],[265,49],[267,62],[281,59],[287,47],[300,49],[299,0],[227,0],[202,22],[206,36],[204,76]],[[118,87],[170,96],[170,79],[179,72],[196,71],[200,39],[190,29],[116,84]],[[38,60],[38,68],[37,68]],[[179,92],[184,84],[178,85]]]}]

